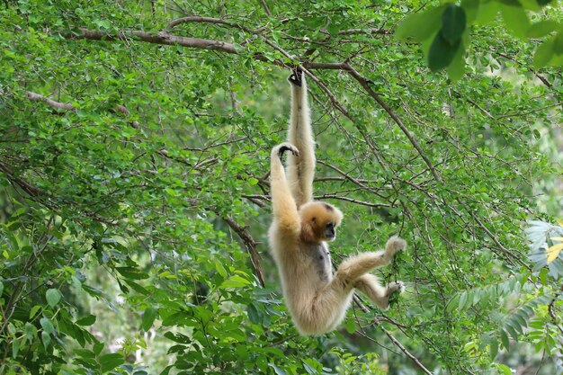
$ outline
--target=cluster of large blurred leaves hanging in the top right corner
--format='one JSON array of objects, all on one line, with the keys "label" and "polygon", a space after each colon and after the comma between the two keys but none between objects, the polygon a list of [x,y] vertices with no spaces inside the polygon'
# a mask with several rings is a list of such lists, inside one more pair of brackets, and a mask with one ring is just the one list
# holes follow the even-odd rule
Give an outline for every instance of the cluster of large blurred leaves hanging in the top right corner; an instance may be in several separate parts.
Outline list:
[{"label": "cluster of large blurred leaves hanging in the top right corner", "polygon": [[[399,40],[421,42],[433,72],[447,68],[448,76],[457,81],[465,70],[464,54],[469,49],[471,26],[496,19],[500,13],[505,29],[520,40],[546,39],[536,49],[535,67],[563,66],[563,25],[559,20],[531,22],[529,12],[541,14],[546,5],[556,1],[479,1],[446,2],[408,15],[395,33]],[[536,17],[537,18],[537,17]]]}]

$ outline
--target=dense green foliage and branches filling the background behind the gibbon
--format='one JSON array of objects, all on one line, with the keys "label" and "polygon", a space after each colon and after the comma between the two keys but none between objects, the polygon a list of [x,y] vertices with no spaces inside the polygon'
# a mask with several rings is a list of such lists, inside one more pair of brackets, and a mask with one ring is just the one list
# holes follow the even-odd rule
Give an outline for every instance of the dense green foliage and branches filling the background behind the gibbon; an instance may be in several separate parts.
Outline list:
[{"label": "dense green foliage and branches filling the background behind the gibbon", "polygon": [[[0,6],[0,373],[563,371],[563,255],[547,267],[542,247],[563,85],[534,67],[541,41],[418,1]],[[426,8],[469,50],[455,84],[394,37]],[[415,41],[445,56],[434,29]],[[319,337],[292,326],[265,236],[297,63],[316,196],[345,215],[335,263],[409,243],[378,272],[406,293],[387,311],[359,296]],[[528,219],[548,226],[531,250]]]}]

